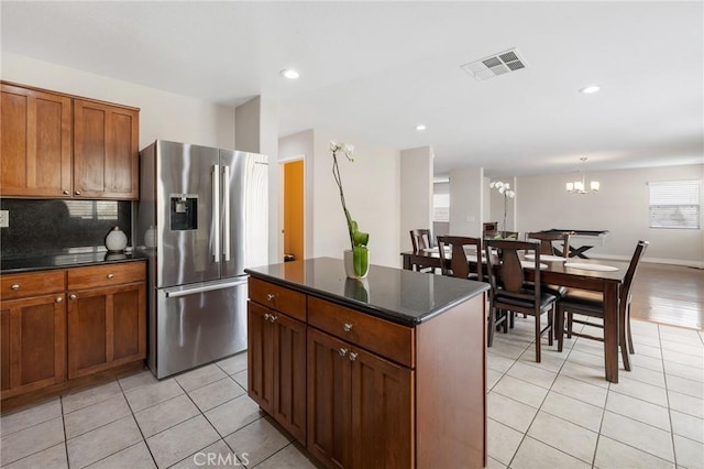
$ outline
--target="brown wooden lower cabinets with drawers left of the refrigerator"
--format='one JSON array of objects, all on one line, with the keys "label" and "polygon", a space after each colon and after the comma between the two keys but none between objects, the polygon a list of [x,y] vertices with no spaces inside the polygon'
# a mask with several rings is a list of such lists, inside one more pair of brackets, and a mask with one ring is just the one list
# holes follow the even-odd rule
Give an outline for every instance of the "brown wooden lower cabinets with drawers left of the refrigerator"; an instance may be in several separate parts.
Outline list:
[{"label": "brown wooden lower cabinets with drawers left of the refrigerator", "polygon": [[3,408],[143,360],[145,280],[143,261],[0,276]]}]

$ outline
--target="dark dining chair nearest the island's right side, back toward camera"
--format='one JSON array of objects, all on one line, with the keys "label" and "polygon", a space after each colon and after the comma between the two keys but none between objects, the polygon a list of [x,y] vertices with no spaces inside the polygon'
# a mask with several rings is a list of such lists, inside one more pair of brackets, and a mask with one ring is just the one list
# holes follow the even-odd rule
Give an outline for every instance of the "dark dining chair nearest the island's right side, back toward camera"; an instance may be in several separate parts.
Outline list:
[{"label": "dark dining chair nearest the island's right side, back toward camera", "polygon": [[[538,242],[490,239],[484,241],[486,272],[491,285],[487,346],[494,340],[496,324],[505,321],[514,313],[524,313],[536,319],[536,361],[540,362],[540,338],[548,332],[548,345],[552,346],[552,325],[557,297],[546,293],[540,283],[540,244]],[[497,253],[492,254],[496,250]],[[534,254],[530,262],[536,271],[535,282],[526,283],[524,264],[519,252]],[[503,310],[504,317],[496,312]],[[540,327],[540,318],[548,314],[548,325]],[[504,329],[506,325],[504,324]]]}]

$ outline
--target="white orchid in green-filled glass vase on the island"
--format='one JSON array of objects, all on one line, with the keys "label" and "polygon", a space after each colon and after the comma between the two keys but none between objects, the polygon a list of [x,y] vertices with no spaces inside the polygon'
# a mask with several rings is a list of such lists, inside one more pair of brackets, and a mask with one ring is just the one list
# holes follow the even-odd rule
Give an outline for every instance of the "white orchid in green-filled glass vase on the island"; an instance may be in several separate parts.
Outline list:
[{"label": "white orchid in green-filled glass vase on the island", "polygon": [[350,244],[352,248],[351,250],[344,251],[344,270],[351,279],[364,279],[370,270],[370,253],[366,248],[370,241],[370,234],[360,231],[356,221],[350,216],[350,211],[344,201],[342,177],[340,176],[340,166],[338,165],[338,152],[341,152],[350,162],[354,161],[352,157],[354,146],[349,143],[338,143],[331,140],[328,150],[332,153],[332,175],[340,189],[340,201],[342,203],[342,210],[344,211],[344,218],[348,222],[348,232],[350,233]]}]

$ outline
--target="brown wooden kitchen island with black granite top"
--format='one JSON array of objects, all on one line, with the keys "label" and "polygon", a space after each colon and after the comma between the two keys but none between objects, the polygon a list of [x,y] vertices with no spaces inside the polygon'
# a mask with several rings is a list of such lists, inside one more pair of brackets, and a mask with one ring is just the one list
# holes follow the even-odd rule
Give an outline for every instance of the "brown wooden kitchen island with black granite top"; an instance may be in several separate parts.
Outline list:
[{"label": "brown wooden kitchen island with black granite top", "polygon": [[249,395],[328,467],[486,465],[485,283],[248,269]]}]

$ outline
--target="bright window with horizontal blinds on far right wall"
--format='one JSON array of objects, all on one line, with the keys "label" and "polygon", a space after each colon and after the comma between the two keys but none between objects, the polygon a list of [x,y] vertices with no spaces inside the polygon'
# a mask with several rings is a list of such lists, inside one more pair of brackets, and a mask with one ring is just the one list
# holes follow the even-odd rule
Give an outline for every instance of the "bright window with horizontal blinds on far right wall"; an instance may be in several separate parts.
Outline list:
[{"label": "bright window with horizontal blinds on far right wall", "polygon": [[650,228],[700,228],[700,182],[648,183]]}]

